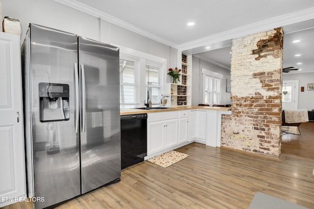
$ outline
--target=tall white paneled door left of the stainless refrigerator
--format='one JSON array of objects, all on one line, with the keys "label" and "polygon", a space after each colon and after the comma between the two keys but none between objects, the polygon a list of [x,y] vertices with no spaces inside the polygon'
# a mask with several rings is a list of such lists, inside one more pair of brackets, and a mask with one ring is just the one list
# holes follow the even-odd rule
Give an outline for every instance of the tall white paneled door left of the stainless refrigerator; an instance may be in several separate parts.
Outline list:
[{"label": "tall white paneled door left of the stainless refrigerator", "polygon": [[1,208],[26,195],[20,36],[2,32],[0,98]]}]

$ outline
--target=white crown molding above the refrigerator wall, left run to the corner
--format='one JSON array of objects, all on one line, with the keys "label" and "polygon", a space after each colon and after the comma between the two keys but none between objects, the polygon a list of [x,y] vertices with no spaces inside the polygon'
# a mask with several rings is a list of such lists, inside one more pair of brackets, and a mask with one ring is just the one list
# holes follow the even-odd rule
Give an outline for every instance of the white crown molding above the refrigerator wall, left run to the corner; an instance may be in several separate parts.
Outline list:
[{"label": "white crown molding above the refrigerator wall, left run to the corner", "polygon": [[72,7],[74,9],[77,9],[78,11],[84,12],[84,13],[89,14],[91,16],[100,18],[100,19],[105,20],[109,23],[113,23],[115,25],[118,25],[120,27],[128,29],[128,30],[135,32],[137,34],[140,34],[140,35],[145,36],[147,38],[153,39],[154,41],[157,41],[159,43],[162,43],[162,44],[165,44],[167,46],[174,47],[174,48],[178,48],[178,45],[171,42],[171,41],[168,41],[164,38],[161,38],[160,36],[157,36],[153,33],[147,32],[146,30],[138,28],[138,27],[136,27],[130,23],[122,21],[118,18],[115,18],[111,15],[106,14],[105,12],[102,12],[98,9],[87,6],[86,4],[80,3],[76,0],[54,0],[54,1],[61,3],[61,4],[64,4],[66,6]]}]

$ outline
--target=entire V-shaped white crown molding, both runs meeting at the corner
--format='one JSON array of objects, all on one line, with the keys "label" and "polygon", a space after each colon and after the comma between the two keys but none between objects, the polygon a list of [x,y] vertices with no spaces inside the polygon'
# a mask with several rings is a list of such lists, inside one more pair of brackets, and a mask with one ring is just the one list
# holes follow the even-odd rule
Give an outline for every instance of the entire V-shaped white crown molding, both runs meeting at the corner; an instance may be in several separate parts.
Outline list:
[{"label": "entire V-shaped white crown molding, both runs meeting at the corner", "polygon": [[234,38],[246,36],[249,34],[262,32],[266,30],[270,30],[277,27],[282,27],[288,24],[293,23],[299,23],[302,21],[307,21],[314,19],[314,7],[304,9],[301,11],[289,13],[287,15],[281,15],[275,18],[270,18],[267,20],[263,20],[261,22],[252,23],[248,25],[244,25],[242,27],[238,27],[232,30],[228,30],[225,32],[213,34],[211,36],[204,37],[202,39],[194,40],[191,42],[187,42],[181,45],[178,45],[176,43],[173,43],[169,40],[166,40],[160,36],[157,36],[155,34],[152,34],[146,30],[143,30],[139,27],[136,27],[130,23],[127,23],[125,21],[122,21],[118,18],[115,18],[111,15],[106,14],[105,12],[102,12],[98,9],[92,8],[86,4],[80,3],[76,0],[54,0],[56,2],[59,2],[61,4],[67,5],[69,7],[72,7],[74,9],[77,9],[81,12],[87,13],[89,15],[95,16],[97,18],[100,18],[104,21],[107,21],[109,23],[116,24],[120,27],[126,28],[132,32],[135,32],[137,34],[140,34],[142,36],[145,36],[147,38],[150,38],[152,40],[155,40],[159,43],[165,44],[167,46],[171,46],[174,48],[177,48],[179,51],[189,50],[200,46],[206,46],[211,45],[215,43],[219,43],[226,40],[231,40]]}]

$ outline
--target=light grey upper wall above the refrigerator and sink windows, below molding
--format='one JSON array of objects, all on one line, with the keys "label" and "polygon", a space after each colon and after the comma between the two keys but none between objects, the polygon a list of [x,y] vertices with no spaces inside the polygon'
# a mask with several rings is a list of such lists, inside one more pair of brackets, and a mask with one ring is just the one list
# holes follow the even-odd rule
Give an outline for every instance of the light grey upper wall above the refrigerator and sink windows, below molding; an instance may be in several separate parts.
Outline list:
[{"label": "light grey upper wall above the refrigerator and sink windows, below molding", "polygon": [[[22,41],[28,24],[35,23],[107,44],[117,44],[153,54],[167,59],[167,66],[170,66],[169,46],[104,20],[101,21],[101,38],[99,40],[99,21],[97,17],[53,0],[2,0],[2,16],[12,16],[20,20],[23,27]],[[177,49],[171,49],[171,63],[177,63],[176,52]]]}]

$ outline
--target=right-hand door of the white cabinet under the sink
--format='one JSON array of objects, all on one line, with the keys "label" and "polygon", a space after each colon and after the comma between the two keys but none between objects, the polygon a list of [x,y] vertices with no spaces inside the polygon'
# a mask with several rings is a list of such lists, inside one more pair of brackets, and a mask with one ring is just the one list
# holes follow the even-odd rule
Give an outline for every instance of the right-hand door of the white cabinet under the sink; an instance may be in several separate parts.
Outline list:
[{"label": "right-hand door of the white cabinet under the sink", "polygon": [[178,119],[167,120],[165,125],[165,145],[164,148],[178,144]]}]

